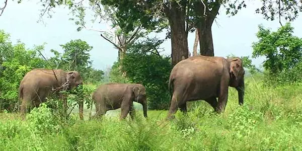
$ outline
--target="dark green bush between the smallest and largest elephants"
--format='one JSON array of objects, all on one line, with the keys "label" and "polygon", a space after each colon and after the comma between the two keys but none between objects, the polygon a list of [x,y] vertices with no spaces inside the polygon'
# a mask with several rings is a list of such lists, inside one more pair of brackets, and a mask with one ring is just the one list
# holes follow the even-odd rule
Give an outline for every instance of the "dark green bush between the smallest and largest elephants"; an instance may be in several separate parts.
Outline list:
[{"label": "dark green bush between the smallest and largest elephants", "polygon": [[149,109],[167,109],[170,104],[168,82],[172,66],[169,56],[160,55],[162,42],[157,38],[137,42],[120,60],[128,82],[145,86]]}]

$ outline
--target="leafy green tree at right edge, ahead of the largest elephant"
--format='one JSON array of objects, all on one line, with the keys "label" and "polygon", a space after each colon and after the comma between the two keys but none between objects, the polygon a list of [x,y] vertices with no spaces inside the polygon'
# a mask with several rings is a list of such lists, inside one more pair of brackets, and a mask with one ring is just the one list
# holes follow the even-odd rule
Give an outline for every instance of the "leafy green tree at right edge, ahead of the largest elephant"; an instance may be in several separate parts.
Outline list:
[{"label": "leafy green tree at right edge, ahead of the largest elephant", "polygon": [[[293,28],[287,23],[276,32],[259,26],[258,42],[253,43],[253,57],[265,56],[263,67],[268,71],[268,82],[292,83],[300,80],[302,39],[293,36]],[[295,76],[298,77],[295,77]]]}]

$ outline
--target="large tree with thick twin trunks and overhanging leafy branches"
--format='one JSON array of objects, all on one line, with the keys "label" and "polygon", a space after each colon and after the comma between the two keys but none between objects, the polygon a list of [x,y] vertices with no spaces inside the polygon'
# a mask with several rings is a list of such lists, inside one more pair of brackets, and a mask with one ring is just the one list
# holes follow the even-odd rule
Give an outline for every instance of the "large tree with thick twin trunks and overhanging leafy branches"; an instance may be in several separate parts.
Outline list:
[{"label": "large tree with thick twin trunks and overhanging leafy branches", "polygon": [[[41,15],[57,5],[67,5],[72,11],[79,10],[83,2],[87,1],[41,0],[44,7]],[[262,14],[266,20],[275,20],[278,17],[280,24],[282,17],[293,21],[298,12],[302,11],[301,2],[295,0],[262,0],[261,2],[262,6],[255,12]],[[99,8],[101,8],[100,4],[112,8],[117,24],[125,34],[135,31],[137,25],[148,30],[168,29],[167,37],[171,38],[172,45],[172,65],[188,57],[188,32],[196,29],[200,54],[213,56],[211,27],[220,7],[225,7],[226,14],[231,16],[246,7],[243,0],[233,2],[229,0],[91,0],[89,4]]]}]

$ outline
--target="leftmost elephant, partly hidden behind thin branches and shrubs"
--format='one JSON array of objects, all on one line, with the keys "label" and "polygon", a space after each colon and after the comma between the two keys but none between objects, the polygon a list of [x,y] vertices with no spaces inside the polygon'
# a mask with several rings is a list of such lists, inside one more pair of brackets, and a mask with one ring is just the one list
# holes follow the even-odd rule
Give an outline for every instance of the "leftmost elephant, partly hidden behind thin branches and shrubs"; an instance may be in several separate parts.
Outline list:
[{"label": "leftmost elephant, partly hidden behind thin branches and shrubs", "polygon": [[[55,73],[55,74],[54,74]],[[24,118],[28,109],[39,107],[46,97],[57,94],[61,90],[70,90],[83,84],[78,71],[62,69],[36,68],[27,72],[20,83],[19,98],[22,100],[21,115]],[[83,101],[79,103],[80,119],[83,119]],[[66,107],[64,99],[64,107]]]}]

